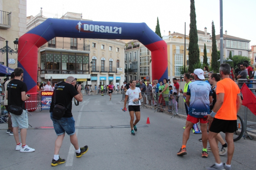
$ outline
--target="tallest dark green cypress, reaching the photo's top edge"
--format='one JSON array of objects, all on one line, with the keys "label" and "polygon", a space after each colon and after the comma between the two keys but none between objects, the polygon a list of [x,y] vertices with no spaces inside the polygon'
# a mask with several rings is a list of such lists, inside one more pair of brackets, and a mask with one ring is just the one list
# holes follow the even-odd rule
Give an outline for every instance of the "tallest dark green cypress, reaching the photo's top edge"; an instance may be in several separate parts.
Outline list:
[{"label": "tallest dark green cypress, reaching the photo's top edge", "polygon": [[190,0],[190,24],[189,24],[189,45],[188,45],[188,72],[193,73],[194,65],[200,63],[200,54],[198,47],[198,36],[196,29],[196,9],[195,0]]}]

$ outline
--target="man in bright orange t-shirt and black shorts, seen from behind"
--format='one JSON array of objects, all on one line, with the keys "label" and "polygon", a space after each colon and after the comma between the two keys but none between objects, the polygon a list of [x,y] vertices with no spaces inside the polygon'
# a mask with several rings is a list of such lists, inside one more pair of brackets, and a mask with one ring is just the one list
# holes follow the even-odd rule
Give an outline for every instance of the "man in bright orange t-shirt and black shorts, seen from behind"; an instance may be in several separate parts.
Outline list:
[{"label": "man in bright orange t-shirt and black shorts, seen from behind", "polygon": [[[222,80],[217,82],[217,101],[212,109],[212,113],[208,115],[207,119],[207,121],[212,121],[208,140],[215,158],[215,164],[207,167],[206,169],[208,170],[231,169],[231,160],[235,149],[233,133],[237,128],[236,114],[242,105],[242,100],[237,84],[229,78],[230,71],[229,64],[220,65],[220,76]],[[222,164],[220,160],[219,149],[215,140],[215,137],[221,131],[225,133],[228,143],[228,160],[226,164]]]}]

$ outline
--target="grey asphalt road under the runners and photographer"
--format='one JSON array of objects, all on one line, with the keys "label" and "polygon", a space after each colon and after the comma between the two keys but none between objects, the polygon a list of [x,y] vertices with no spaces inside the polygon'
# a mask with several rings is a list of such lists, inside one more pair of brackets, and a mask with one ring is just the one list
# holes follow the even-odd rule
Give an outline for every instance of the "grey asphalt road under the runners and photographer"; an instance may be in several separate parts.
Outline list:
[{"label": "grey asphalt road under the runners and photographer", "polygon": [[[187,144],[188,155],[179,157],[176,153],[182,145],[182,134],[185,120],[171,118],[165,113],[157,113],[152,109],[141,109],[141,119],[135,136],[130,134],[130,116],[123,112],[121,95],[84,96],[79,106],[72,105],[76,121],[76,134],[79,146],[88,145],[89,150],[81,158],[76,158],[74,147],[70,145],[68,135],[63,140],[60,157],[66,163],[52,167],[54,141],[56,133],[53,129],[29,129],[27,145],[35,148],[35,152],[22,153],[15,151],[16,143],[13,136],[0,130],[0,169],[205,169],[214,163],[209,152],[208,158],[202,158],[202,142],[198,141],[201,134],[191,131]],[[128,109],[128,105],[127,105]],[[32,112],[29,124],[35,127],[53,126],[48,111]],[[149,117],[150,124],[146,124]],[[82,126],[82,128],[81,128]],[[1,124],[0,129],[7,125]],[[219,146],[220,147],[220,146]],[[256,142],[240,139],[235,142],[235,153],[231,166],[236,169],[255,169]],[[227,156],[221,156],[225,163]]]}]

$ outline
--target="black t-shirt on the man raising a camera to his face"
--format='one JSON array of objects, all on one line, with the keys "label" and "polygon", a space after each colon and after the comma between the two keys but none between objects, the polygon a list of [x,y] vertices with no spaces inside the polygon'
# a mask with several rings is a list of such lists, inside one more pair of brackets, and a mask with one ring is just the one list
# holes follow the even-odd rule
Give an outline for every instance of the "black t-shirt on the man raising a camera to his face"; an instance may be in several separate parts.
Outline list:
[{"label": "black t-shirt on the man raising a camera to his face", "polygon": [[[63,104],[67,110],[63,117],[73,117],[72,115],[72,99],[74,96],[78,95],[79,93],[76,91],[75,87],[72,84],[61,82],[60,84],[56,85],[56,104]],[[50,106],[50,112],[52,112],[54,108],[54,92],[52,95],[52,102]]]}]

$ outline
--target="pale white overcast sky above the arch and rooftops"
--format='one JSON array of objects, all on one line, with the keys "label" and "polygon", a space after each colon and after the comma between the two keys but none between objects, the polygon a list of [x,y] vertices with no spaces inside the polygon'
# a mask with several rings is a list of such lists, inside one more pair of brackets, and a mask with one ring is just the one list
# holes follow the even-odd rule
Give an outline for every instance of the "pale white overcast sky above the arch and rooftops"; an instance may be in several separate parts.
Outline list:
[{"label": "pale white overcast sky above the arch and rooftops", "polygon": [[[161,34],[189,33],[189,0],[27,0],[27,16],[37,15],[42,7],[44,12],[62,15],[66,12],[83,13],[83,19],[108,22],[145,22],[154,32],[159,18]],[[212,34],[212,20],[216,35],[220,34],[220,1],[195,0],[196,25],[198,30]],[[249,39],[256,45],[255,0],[223,0],[223,34]],[[165,30],[165,33],[164,33]]]}]

